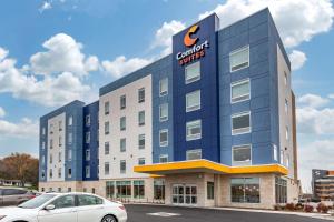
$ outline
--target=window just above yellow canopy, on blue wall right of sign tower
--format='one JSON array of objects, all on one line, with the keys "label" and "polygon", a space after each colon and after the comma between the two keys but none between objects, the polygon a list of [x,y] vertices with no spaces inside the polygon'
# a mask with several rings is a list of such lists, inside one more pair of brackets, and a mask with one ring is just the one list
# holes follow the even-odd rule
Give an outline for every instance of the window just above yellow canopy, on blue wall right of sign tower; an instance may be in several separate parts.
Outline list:
[{"label": "window just above yellow canopy, on blue wall right of sign tower", "polygon": [[252,149],[250,145],[233,147],[233,165],[250,165],[252,164]]}]

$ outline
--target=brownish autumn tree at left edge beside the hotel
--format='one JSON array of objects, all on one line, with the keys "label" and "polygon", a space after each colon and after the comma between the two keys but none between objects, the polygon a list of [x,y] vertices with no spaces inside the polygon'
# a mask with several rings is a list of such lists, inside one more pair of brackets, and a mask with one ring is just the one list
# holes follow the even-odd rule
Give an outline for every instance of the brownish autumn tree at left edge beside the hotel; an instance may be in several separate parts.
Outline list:
[{"label": "brownish autumn tree at left edge beside the hotel", "polygon": [[[1,163],[2,162],[2,163]],[[8,180],[20,180],[24,185],[38,183],[38,159],[26,153],[12,153],[0,162],[0,176]],[[2,172],[2,173],[1,173]]]}]

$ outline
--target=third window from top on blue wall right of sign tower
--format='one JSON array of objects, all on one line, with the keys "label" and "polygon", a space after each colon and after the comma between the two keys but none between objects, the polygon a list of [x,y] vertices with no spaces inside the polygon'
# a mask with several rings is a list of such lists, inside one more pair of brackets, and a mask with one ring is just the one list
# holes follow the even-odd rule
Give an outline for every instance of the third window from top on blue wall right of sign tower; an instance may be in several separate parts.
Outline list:
[{"label": "third window from top on blue wall right of sign tower", "polygon": [[250,132],[250,112],[232,115],[232,134],[243,134]]}]

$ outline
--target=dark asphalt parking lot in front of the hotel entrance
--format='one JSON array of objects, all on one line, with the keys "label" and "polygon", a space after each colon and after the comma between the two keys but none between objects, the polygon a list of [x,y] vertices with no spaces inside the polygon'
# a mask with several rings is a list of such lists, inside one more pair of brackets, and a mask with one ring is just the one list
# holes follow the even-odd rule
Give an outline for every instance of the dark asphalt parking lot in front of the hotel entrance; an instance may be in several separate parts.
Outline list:
[{"label": "dark asphalt parking lot in front of the hotel entrance", "polygon": [[298,215],[164,205],[126,205],[128,222],[324,222]]}]

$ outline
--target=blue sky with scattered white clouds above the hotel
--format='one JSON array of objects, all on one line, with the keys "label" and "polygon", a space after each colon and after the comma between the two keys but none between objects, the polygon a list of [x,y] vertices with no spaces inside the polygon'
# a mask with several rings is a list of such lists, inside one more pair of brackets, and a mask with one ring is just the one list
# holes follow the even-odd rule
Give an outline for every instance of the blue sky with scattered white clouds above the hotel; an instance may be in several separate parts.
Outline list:
[{"label": "blue sky with scattered white clouds above the hotel", "polygon": [[222,27],[269,7],[293,63],[299,167],[334,169],[331,0],[8,0],[0,3],[0,157],[38,153],[38,119],[170,52],[215,11]]}]

